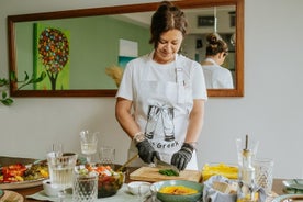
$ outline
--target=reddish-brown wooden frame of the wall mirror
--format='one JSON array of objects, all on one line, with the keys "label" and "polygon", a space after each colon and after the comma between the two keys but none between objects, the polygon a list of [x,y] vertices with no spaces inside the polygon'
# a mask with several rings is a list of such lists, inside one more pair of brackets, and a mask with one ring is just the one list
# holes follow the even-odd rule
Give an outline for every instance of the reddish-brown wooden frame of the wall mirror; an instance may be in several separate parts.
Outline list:
[{"label": "reddish-brown wooden frame of the wall mirror", "polygon": [[[244,96],[244,0],[186,0],[172,1],[181,9],[207,8],[218,5],[236,7],[236,75],[234,89],[207,89],[209,97],[243,97]],[[126,4],[115,7],[77,9],[44,13],[31,13],[8,16],[8,40],[9,40],[9,71],[16,72],[16,47],[14,23],[38,20],[68,19],[80,16],[94,16],[106,14],[122,14],[133,12],[155,11],[159,2]],[[16,90],[16,82],[10,82],[11,97],[114,97],[116,89],[91,89],[91,90]]]}]

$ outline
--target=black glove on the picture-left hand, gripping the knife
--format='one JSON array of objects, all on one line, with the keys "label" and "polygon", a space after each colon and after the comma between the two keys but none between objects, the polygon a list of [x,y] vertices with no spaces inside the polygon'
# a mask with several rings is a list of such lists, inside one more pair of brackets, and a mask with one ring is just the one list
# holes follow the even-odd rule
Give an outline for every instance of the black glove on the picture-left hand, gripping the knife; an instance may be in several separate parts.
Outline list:
[{"label": "black glove on the picture-left hand, gripping the knife", "polygon": [[160,155],[158,152],[152,147],[150,143],[147,139],[144,139],[136,144],[136,147],[138,149],[138,155],[141,159],[146,162],[150,164],[154,161],[154,157],[157,159],[160,159]]}]

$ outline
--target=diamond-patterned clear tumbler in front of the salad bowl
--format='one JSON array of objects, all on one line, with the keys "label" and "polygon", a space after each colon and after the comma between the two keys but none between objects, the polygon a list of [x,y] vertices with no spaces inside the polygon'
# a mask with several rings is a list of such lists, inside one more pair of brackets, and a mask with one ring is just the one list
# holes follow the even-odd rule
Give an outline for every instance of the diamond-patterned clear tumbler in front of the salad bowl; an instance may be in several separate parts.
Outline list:
[{"label": "diamond-patterned clear tumbler in front of the salad bowl", "polygon": [[98,173],[82,172],[78,167],[74,172],[72,201],[94,202],[98,195]]}]

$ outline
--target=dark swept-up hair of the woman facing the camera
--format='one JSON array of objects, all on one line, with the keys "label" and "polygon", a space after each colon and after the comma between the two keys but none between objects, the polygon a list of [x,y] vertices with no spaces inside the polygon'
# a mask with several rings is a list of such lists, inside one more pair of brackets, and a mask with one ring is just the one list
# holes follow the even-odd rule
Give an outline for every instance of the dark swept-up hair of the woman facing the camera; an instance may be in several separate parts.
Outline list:
[{"label": "dark swept-up hair of the woman facing the camera", "polygon": [[169,1],[162,1],[157,11],[153,14],[149,40],[156,47],[160,35],[169,30],[177,29],[182,35],[187,34],[188,21],[184,13]]}]

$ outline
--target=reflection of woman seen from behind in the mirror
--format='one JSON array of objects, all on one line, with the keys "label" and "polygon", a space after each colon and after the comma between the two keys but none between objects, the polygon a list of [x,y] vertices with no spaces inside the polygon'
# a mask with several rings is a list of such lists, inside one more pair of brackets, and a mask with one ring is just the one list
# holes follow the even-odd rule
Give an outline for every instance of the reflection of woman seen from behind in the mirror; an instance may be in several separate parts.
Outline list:
[{"label": "reflection of woman seen from behind in the mirror", "polygon": [[206,40],[206,59],[202,63],[206,88],[234,88],[231,71],[221,67],[228,53],[227,44],[217,34],[209,34]]}]

